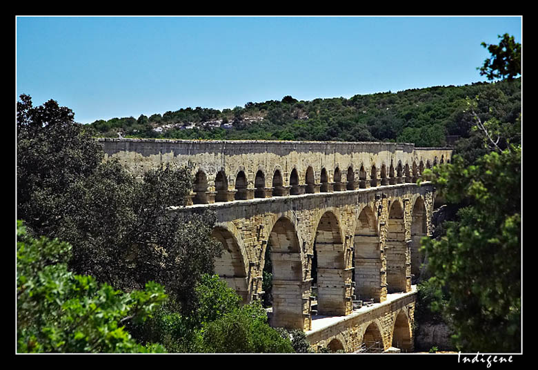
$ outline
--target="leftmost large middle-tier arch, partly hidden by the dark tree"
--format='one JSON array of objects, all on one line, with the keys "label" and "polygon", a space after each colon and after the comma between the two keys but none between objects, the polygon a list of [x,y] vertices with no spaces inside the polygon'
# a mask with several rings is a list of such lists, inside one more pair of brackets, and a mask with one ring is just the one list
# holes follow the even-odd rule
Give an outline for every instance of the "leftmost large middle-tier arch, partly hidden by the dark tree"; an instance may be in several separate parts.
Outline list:
[{"label": "leftmost large middle-tier arch, partly hidden by the dark tree", "polygon": [[[243,303],[249,300],[248,291],[248,257],[239,231],[233,224],[217,225],[211,236],[219,240],[223,246],[221,257],[215,258],[215,273],[224,280],[231,289],[241,296]],[[232,231],[230,231],[230,226]]]}]

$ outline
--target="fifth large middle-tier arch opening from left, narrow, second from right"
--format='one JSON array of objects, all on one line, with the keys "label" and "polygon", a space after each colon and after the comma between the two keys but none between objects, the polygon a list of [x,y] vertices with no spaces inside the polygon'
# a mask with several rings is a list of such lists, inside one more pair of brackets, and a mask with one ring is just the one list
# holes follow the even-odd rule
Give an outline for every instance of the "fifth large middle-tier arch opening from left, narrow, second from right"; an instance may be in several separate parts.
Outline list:
[{"label": "fifth large middle-tier arch opening from left, narrow, second from right", "polygon": [[[408,291],[408,248],[406,243],[406,228],[403,220],[403,206],[399,200],[390,205],[387,222],[385,256],[387,266],[387,291],[396,293]],[[410,285],[410,280],[409,280]]]}]

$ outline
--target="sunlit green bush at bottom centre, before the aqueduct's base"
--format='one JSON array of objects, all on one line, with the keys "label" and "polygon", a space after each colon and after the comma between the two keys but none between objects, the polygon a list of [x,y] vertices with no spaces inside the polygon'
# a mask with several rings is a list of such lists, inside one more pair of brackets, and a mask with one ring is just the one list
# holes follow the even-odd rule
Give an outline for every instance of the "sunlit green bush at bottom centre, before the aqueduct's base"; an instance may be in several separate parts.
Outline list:
[{"label": "sunlit green bush at bottom centre, before the aqueduct's base", "polygon": [[268,325],[259,303],[241,305],[239,295],[217,275],[204,275],[192,300],[197,304],[185,314],[174,304],[161,306],[153,318],[132,326],[133,335],[144,343],[162,343],[168,352],[293,352],[290,338]]}]

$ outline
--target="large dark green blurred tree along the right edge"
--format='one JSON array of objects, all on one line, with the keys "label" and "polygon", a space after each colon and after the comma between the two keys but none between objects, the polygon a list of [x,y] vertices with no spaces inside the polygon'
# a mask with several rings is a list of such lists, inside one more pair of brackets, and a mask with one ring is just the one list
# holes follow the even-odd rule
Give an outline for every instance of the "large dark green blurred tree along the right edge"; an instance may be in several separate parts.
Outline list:
[{"label": "large dark green blurred tree along the right edge", "polygon": [[462,351],[517,352],[521,344],[521,147],[425,171],[461,204],[440,240],[425,240],[430,282],[447,291],[444,315]]}]

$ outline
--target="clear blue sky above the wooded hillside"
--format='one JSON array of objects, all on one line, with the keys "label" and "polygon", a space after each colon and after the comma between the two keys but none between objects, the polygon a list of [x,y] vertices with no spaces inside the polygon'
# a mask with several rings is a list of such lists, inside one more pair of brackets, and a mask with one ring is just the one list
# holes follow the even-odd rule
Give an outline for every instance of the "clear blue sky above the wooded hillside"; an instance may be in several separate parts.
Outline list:
[{"label": "clear blue sky above the wooded hillside", "polygon": [[17,99],[75,121],[486,81],[521,17],[17,17]]}]

